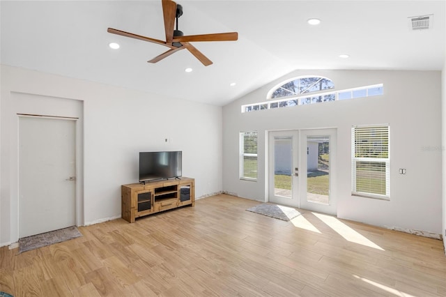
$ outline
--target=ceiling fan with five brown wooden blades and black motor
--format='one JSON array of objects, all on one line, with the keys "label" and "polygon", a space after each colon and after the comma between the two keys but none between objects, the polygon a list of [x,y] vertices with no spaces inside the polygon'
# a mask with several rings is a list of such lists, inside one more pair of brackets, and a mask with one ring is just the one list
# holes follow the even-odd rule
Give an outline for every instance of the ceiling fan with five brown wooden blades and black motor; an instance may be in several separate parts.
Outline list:
[{"label": "ceiling fan with five brown wooden blades and black motor", "polygon": [[[164,16],[164,30],[166,32],[166,41],[157,40],[113,28],[107,29],[107,32],[169,47],[169,50],[167,50],[167,52],[163,52],[162,54],[155,56],[155,58],[148,61],[149,63],[156,63],[166,58],[167,56],[174,54],[174,52],[186,49],[191,52],[197,59],[199,59],[199,61],[201,61],[204,66],[209,66],[210,64],[212,64],[212,61],[210,61],[203,53],[197,50],[197,48],[191,45],[190,42],[230,41],[238,39],[237,32],[184,36],[183,32],[178,30],[178,17],[183,15],[183,7],[171,0],[162,0],[162,14]],[[174,29],[175,21],[176,29]]]}]

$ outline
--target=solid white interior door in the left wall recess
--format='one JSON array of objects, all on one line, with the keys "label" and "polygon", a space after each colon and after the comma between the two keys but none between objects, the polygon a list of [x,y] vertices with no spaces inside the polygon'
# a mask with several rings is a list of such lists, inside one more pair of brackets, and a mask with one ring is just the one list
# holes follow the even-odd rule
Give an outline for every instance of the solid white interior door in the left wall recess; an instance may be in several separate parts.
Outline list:
[{"label": "solid white interior door in the left wall recess", "polygon": [[76,224],[76,122],[19,117],[19,238]]}]

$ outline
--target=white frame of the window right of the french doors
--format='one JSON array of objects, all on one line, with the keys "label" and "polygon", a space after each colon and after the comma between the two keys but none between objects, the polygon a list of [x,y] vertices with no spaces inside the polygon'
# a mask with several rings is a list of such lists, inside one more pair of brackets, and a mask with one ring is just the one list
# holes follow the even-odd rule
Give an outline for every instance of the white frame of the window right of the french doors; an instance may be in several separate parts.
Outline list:
[{"label": "white frame of the window right of the french doors", "polygon": [[[387,146],[381,145],[376,146],[376,151],[370,154],[379,154],[380,151],[382,151],[382,148],[384,147],[387,151],[387,158],[383,158],[383,156],[380,156],[380,158],[372,158],[372,157],[357,157],[357,144],[355,142],[356,138],[356,130],[371,130],[373,128],[382,130],[383,128],[387,128]],[[371,134],[371,133],[370,133]],[[374,141],[373,138],[362,138],[366,141],[372,142]],[[352,184],[351,184],[351,195],[352,196],[358,196],[358,197],[367,197],[367,198],[374,198],[374,199],[383,199],[383,200],[390,200],[390,125],[388,124],[381,124],[381,125],[356,125],[353,126],[351,129],[351,170],[352,170]],[[359,148],[360,150],[364,150],[364,148]],[[357,190],[357,163],[358,162],[369,162],[370,164],[375,163],[376,165],[379,165],[380,163],[385,164],[385,194],[379,194],[376,192],[364,192],[364,191],[358,191]],[[373,165],[372,165],[373,166]]]}]

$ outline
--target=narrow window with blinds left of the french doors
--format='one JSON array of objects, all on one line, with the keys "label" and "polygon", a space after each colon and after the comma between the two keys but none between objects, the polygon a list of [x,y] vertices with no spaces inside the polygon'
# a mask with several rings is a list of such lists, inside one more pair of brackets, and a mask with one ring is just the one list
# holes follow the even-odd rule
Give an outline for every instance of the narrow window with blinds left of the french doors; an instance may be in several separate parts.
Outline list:
[{"label": "narrow window with blinds left of the french doors", "polygon": [[257,132],[240,132],[240,179],[257,180]]}]

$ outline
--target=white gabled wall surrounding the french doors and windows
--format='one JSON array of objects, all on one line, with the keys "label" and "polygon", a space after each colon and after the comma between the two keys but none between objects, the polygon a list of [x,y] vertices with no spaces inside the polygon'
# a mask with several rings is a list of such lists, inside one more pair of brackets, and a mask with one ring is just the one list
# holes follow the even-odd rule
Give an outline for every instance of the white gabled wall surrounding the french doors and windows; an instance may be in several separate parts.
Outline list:
[{"label": "white gabled wall surrounding the french doors and windows", "polygon": [[[333,80],[336,90],[384,84],[384,95],[315,105],[240,113],[240,105],[266,100],[279,82],[300,75]],[[337,214],[378,226],[426,231],[442,229],[440,71],[298,70],[223,108],[223,190],[266,198],[266,131],[337,128]],[[390,125],[390,201],[351,195],[351,126]],[[259,133],[259,180],[238,179],[238,132]],[[407,174],[400,175],[399,168]]]}]

